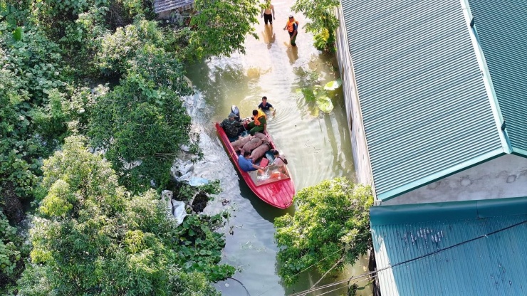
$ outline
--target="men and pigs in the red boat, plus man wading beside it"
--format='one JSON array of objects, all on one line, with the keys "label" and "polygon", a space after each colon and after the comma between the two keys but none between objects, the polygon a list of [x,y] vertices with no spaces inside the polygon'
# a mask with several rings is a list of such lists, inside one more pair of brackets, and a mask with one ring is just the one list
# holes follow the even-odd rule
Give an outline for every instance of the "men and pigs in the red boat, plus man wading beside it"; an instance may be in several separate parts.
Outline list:
[{"label": "men and pigs in the red boat, plus man wading beside it", "polygon": [[[252,112],[252,121],[249,119],[241,120],[238,115],[231,112],[229,117],[220,123],[223,127],[226,136],[229,138],[234,149],[240,152],[238,157],[238,164],[243,171],[256,171],[258,169],[264,170],[268,166],[274,166],[283,174],[286,174],[283,157],[275,149],[271,150],[271,163],[262,161],[260,164],[254,162],[261,157],[264,157],[270,150],[270,145],[267,134],[267,115],[265,112],[272,110],[273,115],[275,109],[273,105],[267,102],[267,97],[261,98],[261,103],[258,108]],[[246,137],[241,137],[242,134],[249,132]],[[265,157],[264,157],[265,158]],[[265,164],[264,164],[265,163]]]}]

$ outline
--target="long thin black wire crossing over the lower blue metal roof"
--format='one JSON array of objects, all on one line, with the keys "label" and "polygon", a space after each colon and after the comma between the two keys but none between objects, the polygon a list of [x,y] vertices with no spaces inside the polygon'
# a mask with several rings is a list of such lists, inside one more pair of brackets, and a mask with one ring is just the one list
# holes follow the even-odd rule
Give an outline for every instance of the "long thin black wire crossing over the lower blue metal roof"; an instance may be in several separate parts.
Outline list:
[{"label": "long thin black wire crossing over the lower blue metal roof", "polygon": [[[484,235],[477,236],[476,238],[471,238],[471,239],[469,239],[469,240],[464,240],[464,241],[462,241],[461,243],[456,243],[456,244],[454,244],[454,245],[450,245],[450,246],[447,247],[447,248],[442,248],[442,249],[440,249],[440,250],[435,250],[435,251],[432,252],[432,253],[427,253],[427,254],[424,254],[424,255],[420,255],[419,257],[412,258],[412,259],[409,259],[409,260],[405,260],[405,261],[402,261],[402,262],[400,262],[400,263],[396,263],[396,264],[394,264],[394,265],[388,265],[387,267],[385,267],[385,268],[381,268],[381,269],[379,269],[379,270],[370,271],[370,272],[368,272],[368,273],[362,273],[361,275],[358,275],[357,277],[352,276],[352,277],[350,277],[349,279],[346,279],[346,280],[338,280],[338,281],[333,282],[333,283],[330,283],[330,284],[328,284],[328,285],[323,285],[323,286],[320,286],[320,287],[316,287],[316,288],[313,289],[313,290],[311,290],[311,289],[310,289],[310,290],[311,290],[311,292],[314,292],[314,291],[316,291],[316,290],[320,290],[321,288],[333,287],[333,286],[335,286],[335,285],[340,285],[340,284],[342,284],[342,283],[344,283],[344,282],[348,282],[349,280],[352,280],[352,279],[356,280],[356,279],[360,279],[360,278],[362,278],[362,277],[367,277],[368,275],[372,275],[372,276],[367,277],[366,279],[363,279],[363,278],[362,278],[362,280],[360,280],[360,281],[368,280],[368,279],[372,279],[373,277],[377,277],[377,276],[378,276],[378,273],[379,273],[380,271],[387,270],[387,269],[390,269],[390,268],[395,268],[395,267],[397,267],[397,266],[399,266],[399,265],[407,264],[407,263],[410,263],[410,262],[415,261],[415,260],[419,260],[419,259],[422,259],[422,258],[426,258],[426,257],[428,257],[428,256],[435,255],[435,254],[437,254],[437,253],[441,253],[441,252],[443,252],[444,250],[449,250],[449,249],[452,249],[452,248],[456,248],[456,247],[459,247],[459,245],[464,245],[464,244],[466,244],[466,243],[471,243],[471,242],[474,241],[474,240],[479,240],[479,239],[481,239],[481,238],[486,238],[486,237],[488,237],[488,236],[492,236],[492,235],[494,235],[494,234],[496,234],[496,233],[500,233],[501,231],[506,231],[506,230],[511,229],[511,228],[514,228],[514,227],[516,227],[516,226],[521,226],[521,225],[523,225],[523,224],[525,224],[525,223],[527,223],[527,220],[525,220],[525,221],[521,221],[521,222],[518,222],[518,223],[513,224],[513,225],[511,225],[511,226],[507,226],[507,227],[505,227],[505,228],[501,228],[501,229],[499,229],[499,230],[497,230],[497,231],[492,231],[492,232],[490,232],[490,233],[486,233],[486,234],[484,234]],[[310,291],[310,290],[306,290],[306,291]],[[298,295],[302,295],[303,293],[306,293],[306,294],[307,294],[306,291],[296,292],[295,294],[292,294],[292,295],[289,295],[289,296],[298,296]],[[305,295],[305,294],[304,294],[304,295]]]}]

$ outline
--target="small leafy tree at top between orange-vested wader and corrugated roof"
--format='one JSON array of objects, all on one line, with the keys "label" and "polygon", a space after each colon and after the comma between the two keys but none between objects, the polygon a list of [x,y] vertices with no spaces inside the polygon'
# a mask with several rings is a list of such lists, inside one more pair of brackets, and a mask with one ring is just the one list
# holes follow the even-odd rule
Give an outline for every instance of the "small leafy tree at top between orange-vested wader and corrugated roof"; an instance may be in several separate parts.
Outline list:
[{"label": "small leafy tree at top between orange-vested wader and corrugated roof", "polygon": [[339,23],[334,11],[339,5],[338,0],[297,0],[291,7],[311,20],[306,23],[306,31],[313,33],[315,47],[320,51],[335,51],[335,30]]}]

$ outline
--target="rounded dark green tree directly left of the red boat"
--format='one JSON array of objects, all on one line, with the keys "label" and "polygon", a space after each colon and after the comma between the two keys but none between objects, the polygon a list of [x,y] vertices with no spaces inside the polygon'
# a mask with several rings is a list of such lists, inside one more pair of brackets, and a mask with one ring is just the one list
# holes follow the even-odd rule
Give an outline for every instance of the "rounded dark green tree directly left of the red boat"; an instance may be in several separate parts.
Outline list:
[{"label": "rounded dark green tree directly left of the red boat", "polygon": [[152,179],[157,185],[168,181],[172,161],[165,157],[189,144],[190,124],[177,93],[132,73],[98,100],[89,134],[93,145],[107,149],[105,156],[125,173],[125,184],[139,189],[149,188]]}]

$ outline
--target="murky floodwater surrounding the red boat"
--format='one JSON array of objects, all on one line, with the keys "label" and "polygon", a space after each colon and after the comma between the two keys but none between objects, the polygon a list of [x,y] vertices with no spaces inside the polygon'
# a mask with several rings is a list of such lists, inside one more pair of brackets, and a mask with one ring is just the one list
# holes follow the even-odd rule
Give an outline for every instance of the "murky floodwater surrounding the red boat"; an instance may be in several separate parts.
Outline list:
[{"label": "murky floodwater surrounding the red boat", "polygon": [[[293,214],[294,207],[273,208],[250,191],[221,146],[214,122],[223,120],[231,105],[239,107],[242,117],[249,116],[266,95],[276,108],[276,115],[268,119],[267,129],[278,150],[288,159],[297,192],[325,179],[353,178],[354,175],[342,93],[333,97],[333,112],[325,114],[318,113],[314,103],[306,102],[298,92],[299,88],[316,83],[315,80],[323,85],[338,78],[338,68],[331,60],[333,57],[324,56],[313,47],[312,36],[303,30],[306,23],[303,16],[296,15],[300,22],[298,46],[288,45],[288,33],[282,28],[292,3],[290,0],[273,3],[274,26],[265,26],[261,19],[256,26],[259,40],[247,38],[246,56],[212,58],[187,68],[196,94],[187,97],[186,104],[204,151],[204,160],[195,164],[194,175],[221,182],[223,192],[207,206],[206,212],[231,211],[231,218],[221,229],[226,233],[223,262],[239,268],[234,277],[251,296],[291,295],[308,290],[320,275],[306,272],[293,287],[281,285],[276,274],[278,248],[273,241],[273,220],[286,213]],[[325,279],[320,285],[364,273],[365,263],[360,260],[339,277]],[[365,284],[359,282],[359,286]],[[216,287],[223,295],[246,295],[234,280],[219,282]],[[345,285],[338,285],[309,295],[345,295],[345,292]],[[363,290],[358,295],[371,295],[371,290]]]}]

